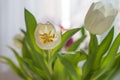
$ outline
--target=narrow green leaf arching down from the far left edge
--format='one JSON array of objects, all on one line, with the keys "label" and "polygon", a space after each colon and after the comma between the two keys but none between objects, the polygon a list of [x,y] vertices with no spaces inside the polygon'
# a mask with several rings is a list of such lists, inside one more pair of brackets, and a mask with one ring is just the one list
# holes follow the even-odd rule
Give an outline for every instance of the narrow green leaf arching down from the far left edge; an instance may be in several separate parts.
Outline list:
[{"label": "narrow green leaf arching down from the far left edge", "polygon": [[9,58],[0,56],[0,59],[3,59],[6,61],[7,64],[13,69],[13,71],[20,76],[22,79],[27,80],[27,77],[24,75],[24,73],[11,61]]}]

